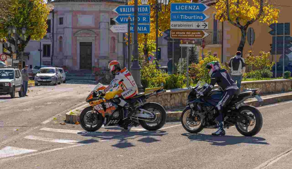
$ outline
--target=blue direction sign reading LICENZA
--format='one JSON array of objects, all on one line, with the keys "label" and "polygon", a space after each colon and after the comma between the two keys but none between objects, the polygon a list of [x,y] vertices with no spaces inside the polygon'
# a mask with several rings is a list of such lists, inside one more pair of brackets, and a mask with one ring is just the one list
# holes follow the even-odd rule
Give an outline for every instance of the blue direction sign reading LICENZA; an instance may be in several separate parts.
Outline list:
[{"label": "blue direction sign reading LICENZA", "polygon": [[172,3],[171,12],[204,12],[209,9],[202,3]]}]

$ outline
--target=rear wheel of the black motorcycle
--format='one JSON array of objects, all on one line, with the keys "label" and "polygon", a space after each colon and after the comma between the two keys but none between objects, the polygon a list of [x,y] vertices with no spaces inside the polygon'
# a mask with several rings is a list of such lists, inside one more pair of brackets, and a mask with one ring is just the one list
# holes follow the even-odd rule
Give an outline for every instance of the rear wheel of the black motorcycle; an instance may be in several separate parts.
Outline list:
[{"label": "rear wheel of the black motorcycle", "polygon": [[[246,120],[235,124],[237,131],[244,136],[254,136],[258,134],[263,126],[263,117],[260,111],[253,106],[244,106],[239,108],[239,112],[241,114],[246,113]],[[253,116],[253,118],[251,116]],[[249,126],[254,127],[252,130],[248,130]]]}]

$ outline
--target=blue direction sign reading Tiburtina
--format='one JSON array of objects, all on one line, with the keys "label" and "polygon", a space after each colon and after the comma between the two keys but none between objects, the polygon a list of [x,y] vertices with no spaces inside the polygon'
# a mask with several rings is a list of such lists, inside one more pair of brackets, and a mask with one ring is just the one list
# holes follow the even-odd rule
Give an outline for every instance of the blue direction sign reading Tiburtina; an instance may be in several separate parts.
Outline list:
[{"label": "blue direction sign reading Tiburtina", "polygon": [[204,13],[171,13],[170,21],[197,21],[203,22],[208,19],[209,16]]}]

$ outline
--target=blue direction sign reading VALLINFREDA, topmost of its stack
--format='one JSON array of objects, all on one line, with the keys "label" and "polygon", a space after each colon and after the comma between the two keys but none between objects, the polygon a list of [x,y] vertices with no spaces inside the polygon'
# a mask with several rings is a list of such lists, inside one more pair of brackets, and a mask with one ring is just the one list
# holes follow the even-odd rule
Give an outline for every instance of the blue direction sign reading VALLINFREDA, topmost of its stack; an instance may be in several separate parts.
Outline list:
[{"label": "blue direction sign reading VALLINFREDA, topmost of its stack", "polygon": [[[120,5],[112,11],[119,15],[134,15],[134,5]],[[138,5],[138,14],[150,14],[150,5]]]}]

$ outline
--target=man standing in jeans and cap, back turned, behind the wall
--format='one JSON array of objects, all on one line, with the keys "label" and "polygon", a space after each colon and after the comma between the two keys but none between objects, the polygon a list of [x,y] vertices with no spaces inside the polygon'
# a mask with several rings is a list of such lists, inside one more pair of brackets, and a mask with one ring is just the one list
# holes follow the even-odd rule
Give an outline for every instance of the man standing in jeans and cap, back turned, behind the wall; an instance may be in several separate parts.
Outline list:
[{"label": "man standing in jeans and cap, back turned, behind the wall", "polygon": [[228,67],[231,70],[231,78],[234,82],[237,82],[236,85],[240,89],[242,76],[245,73],[245,61],[241,57],[241,52],[237,51],[236,55],[230,59]]}]

